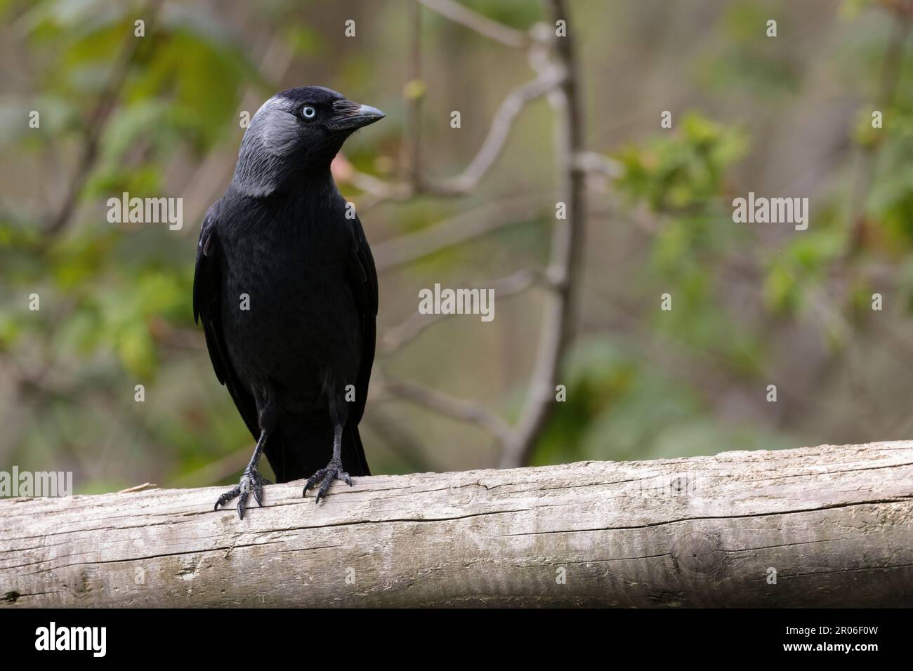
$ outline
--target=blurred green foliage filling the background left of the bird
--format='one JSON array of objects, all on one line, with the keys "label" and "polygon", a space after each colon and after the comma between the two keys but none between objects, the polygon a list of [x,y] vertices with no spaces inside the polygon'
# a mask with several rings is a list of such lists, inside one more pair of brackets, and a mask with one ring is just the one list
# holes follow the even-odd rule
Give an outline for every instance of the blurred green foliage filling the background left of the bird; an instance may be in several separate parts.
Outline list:
[{"label": "blurred green foliage filling the background left of the bird", "polygon": [[[198,161],[217,143],[237,137],[242,85],[264,92],[271,87],[249,61],[246,45],[194,5],[167,3],[158,16],[142,4],[67,0],[7,3],[3,11],[33,55],[29,77],[35,84],[31,97],[2,100],[0,118],[16,119],[3,142],[50,156],[85,142],[97,100],[124,58],[124,36],[132,37],[137,16],[147,21],[147,36],[115,92],[116,110],[101,129],[77,215],[112,194],[168,193],[166,171],[175,160]],[[296,48],[306,36],[303,29],[289,32]],[[40,110],[42,132],[21,122],[27,110]],[[60,172],[68,170],[61,166]],[[36,398],[16,451],[7,450],[5,459],[77,470],[79,491],[100,491],[130,484],[95,473],[93,464],[110,453],[112,442],[121,459],[151,474],[162,472],[156,461],[177,459],[186,472],[229,446],[244,445],[230,401],[219,395],[211,406],[197,400],[183,409],[163,407],[157,386],[185,361],[175,357],[169,339],[193,326],[194,232],[163,236],[159,228],[114,226],[95,209],[81,215],[79,225],[43,236],[39,231],[53,207],[14,209],[14,194],[4,194],[3,201],[0,355],[20,369],[26,406],[31,395]],[[197,224],[185,225],[193,231]],[[38,312],[23,299],[32,292],[41,300]],[[198,343],[191,351],[205,357]],[[146,387],[143,406],[133,401],[136,383]],[[173,384],[180,388],[186,381]],[[223,426],[230,431],[220,431]],[[216,452],[214,436],[223,446]]]}]

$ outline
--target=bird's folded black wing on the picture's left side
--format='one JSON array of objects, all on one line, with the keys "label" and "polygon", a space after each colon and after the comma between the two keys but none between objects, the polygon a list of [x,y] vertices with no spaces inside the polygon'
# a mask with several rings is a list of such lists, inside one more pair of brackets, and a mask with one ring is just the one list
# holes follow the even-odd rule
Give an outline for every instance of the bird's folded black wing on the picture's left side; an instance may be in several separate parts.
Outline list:
[{"label": "bird's folded black wing on the picture's left side", "polygon": [[257,438],[260,435],[257,423],[257,404],[254,397],[238,380],[226,347],[225,332],[222,330],[222,260],[218,239],[218,216],[221,201],[216,201],[203,219],[200,243],[196,247],[196,268],[194,269],[194,321],[203,322],[206,349],[213,362],[215,377],[226,385],[228,393],[237,406],[241,418]]}]

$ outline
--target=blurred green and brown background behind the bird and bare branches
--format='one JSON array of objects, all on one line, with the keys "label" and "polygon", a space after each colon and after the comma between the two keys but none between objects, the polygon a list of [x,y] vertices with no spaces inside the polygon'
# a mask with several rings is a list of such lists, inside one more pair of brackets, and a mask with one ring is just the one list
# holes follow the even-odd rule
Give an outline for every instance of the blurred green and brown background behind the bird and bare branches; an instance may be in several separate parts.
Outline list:
[{"label": "blurred green and brown background behind the bird and bare branches", "polygon": [[[523,32],[548,20],[537,2],[464,5]],[[572,0],[584,143],[620,170],[587,178],[567,401],[533,464],[913,438],[908,5]],[[346,175],[402,176],[415,129],[423,173],[461,171],[534,77],[523,50],[410,0],[7,0],[0,16],[0,469],[72,470],[79,493],[236,481],[253,441],[193,322],[196,238],[231,178],[240,113],[306,84],[387,113],[338,166],[375,254],[476,208],[509,220],[382,271],[375,369],[516,419],[539,290],[498,299],[490,323],[456,317],[382,345],[421,288],[545,264],[548,101],[520,112],[470,194],[376,202]],[[809,197],[809,229],[734,224],[731,201],[749,191]],[[121,192],[184,197],[184,228],[108,223]],[[393,394],[371,399],[362,435],[376,474],[498,463],[492,436]]]}]

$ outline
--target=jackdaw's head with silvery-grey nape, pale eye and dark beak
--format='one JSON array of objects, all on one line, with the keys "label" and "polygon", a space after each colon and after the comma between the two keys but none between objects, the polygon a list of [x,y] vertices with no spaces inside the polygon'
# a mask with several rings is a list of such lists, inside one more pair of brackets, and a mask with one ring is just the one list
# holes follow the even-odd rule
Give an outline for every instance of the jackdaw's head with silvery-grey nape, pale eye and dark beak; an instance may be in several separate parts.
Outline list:
[{"label": "jackdaw's head with silvery-grey nape, pale eye and dark beak", "polygon": [[331,89],[281,91],[250,120],[233,183],[244,194],[264,197],[309,177],[324,177],[346,138],[382,119],[381,110],[346,100]]}]

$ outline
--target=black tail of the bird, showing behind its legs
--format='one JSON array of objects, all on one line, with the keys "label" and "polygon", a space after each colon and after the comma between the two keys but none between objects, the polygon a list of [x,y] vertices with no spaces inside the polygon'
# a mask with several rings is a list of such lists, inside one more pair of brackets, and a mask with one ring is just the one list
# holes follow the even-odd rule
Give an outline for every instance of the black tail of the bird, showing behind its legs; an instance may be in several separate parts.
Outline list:
[{"label": "black tail of the bird, showing behind its legs", "polygon": [[[278,427],[267,439],[265,453],[277,482],[311,477],[330,463],[333,456],[333,430],[329,425]],[[342,468],[350,476],[370,476],[358,426],[342,429]]]}]

